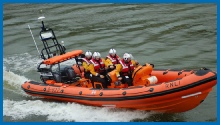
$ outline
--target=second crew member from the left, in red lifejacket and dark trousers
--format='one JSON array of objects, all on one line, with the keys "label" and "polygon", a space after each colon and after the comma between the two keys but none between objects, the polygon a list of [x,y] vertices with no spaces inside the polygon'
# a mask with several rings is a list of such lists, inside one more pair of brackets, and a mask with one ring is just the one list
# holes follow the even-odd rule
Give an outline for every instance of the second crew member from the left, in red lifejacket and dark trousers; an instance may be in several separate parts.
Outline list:
[{"label": "second crew member from the left, in red lifejacket and dark trousers", "polygon": [[105,60],[101,58],[99,52],[93,53],[93,58],[90,60],[89,71],[92,74],[91,81],[102,83],[103,88],[107,88],[107,81],[105,80]]}]

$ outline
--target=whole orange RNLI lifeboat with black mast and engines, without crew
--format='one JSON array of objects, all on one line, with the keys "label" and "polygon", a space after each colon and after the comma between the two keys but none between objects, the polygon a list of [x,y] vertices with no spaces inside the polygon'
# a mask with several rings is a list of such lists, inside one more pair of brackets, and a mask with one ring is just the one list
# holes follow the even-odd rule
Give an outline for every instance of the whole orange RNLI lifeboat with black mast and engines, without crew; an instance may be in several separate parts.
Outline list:
[{"label": "whole orange RNLI lifeboat with black mast and engines, without crew", "polygon": [[[42,30],[48,34],[46,28]],[[32,96],[90,106],[180,113],[201,104],[217,84],[217,73],[207,68],[154,69],[154,65],[144,64],[134,70],[133,86],[117,81],[113,70],[106,75],[108,88],[103,88],[101,83],[84,78],[84,69],[79,63],[83,51],[65,52],[65,48],[56,43],[53,32],[51,34],[42,37],[43,43],[52,39],[55,44],[49,46],[47,42],[42,50],[44,60],[37,67],[41,81],[25,81],[21,85]],[[53,47],[58,54],[51,55],[49,50]],[[62,65],[71,59],[75,59],[76,64]]]}]

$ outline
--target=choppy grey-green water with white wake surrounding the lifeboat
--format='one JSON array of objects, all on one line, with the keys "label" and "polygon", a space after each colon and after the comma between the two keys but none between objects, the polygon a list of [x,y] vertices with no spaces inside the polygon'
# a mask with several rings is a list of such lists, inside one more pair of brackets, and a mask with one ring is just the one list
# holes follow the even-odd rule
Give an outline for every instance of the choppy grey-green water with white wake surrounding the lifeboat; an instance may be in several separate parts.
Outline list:
[{"label": "choppy grey-green water with white wake surrounding the lifeboat", "polygon": [[[155,68],[217,70],[216,4],[4,4],[4,121],[216,121],[217,87],[197,108],[180,114],[158,114],[50,102],[25,94],[20,86],[37,80],[41,61],[41,23],[53,28],[67,51],[110,48],[130,52]],[[82,117],[83,116],[83,117]]]}]

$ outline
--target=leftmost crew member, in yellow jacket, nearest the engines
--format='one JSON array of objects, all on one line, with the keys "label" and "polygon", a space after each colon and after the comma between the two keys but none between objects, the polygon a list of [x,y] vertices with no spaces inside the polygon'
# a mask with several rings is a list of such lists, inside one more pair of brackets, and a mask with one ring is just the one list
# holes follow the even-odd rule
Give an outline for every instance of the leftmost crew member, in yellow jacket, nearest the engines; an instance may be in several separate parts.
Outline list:
[{"label": "leftmost crew member, in yellow jacket, nearest the engines", "polygon": [[89,65],[91,64],[90,60],[92,59],[92,52],[86,51],[85,57],[82,58],[82,66],[84,67],[84,76],[85,78],[90,78]]}]

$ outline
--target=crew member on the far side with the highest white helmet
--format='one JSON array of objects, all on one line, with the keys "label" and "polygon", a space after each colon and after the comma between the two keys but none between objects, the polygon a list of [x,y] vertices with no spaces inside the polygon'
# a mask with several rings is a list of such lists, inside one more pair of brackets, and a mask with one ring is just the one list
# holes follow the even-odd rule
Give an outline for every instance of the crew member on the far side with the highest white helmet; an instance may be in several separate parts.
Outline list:
[{"label": "crew member on the far side with the highest white helmet", "polygon": [[105,66],[107,67],[107,71],[111,72],[115,69],[116,64],[119,64],[120,57],[116,54],[115,49],[109,50],[109,55],[105,58]]}]

